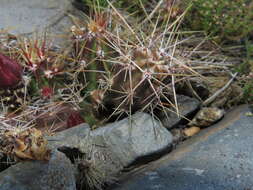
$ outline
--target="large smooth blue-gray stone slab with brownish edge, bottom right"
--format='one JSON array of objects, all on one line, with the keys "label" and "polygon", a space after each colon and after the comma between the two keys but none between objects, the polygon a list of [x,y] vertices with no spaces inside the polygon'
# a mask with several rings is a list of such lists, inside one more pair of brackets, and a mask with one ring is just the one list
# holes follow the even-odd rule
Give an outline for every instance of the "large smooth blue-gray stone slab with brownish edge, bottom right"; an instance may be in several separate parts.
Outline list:
[{"label": "large smooth blue-gray stone slab with brownish edge, bottom right", "polygon": [[117,190],[250,190],[253,117],[240,106],[175,151],[123,178]]}]

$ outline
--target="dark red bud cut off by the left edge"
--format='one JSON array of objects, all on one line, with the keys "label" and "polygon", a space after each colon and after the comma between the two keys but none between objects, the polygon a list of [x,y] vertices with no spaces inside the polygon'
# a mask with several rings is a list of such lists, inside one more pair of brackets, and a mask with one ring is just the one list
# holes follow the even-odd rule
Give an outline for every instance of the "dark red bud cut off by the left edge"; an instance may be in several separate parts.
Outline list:
[{"label": "dark red bud cut off by the left edge", "polygon": [[21,65],[0,53],[0,88],[15,87],[21,80]]}]

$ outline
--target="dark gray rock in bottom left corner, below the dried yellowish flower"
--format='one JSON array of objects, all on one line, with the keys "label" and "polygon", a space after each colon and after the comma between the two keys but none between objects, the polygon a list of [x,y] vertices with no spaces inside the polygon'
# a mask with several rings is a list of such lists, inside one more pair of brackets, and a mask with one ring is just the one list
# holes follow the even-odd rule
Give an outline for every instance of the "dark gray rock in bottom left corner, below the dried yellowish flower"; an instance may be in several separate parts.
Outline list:
[{"label": "dark gray rock in bottom left corner, below the dried yellowish flower", "polygon": [[0,173],[1,190],[75,190],[73,166],[54,151],[47,161],[24,161]]}]

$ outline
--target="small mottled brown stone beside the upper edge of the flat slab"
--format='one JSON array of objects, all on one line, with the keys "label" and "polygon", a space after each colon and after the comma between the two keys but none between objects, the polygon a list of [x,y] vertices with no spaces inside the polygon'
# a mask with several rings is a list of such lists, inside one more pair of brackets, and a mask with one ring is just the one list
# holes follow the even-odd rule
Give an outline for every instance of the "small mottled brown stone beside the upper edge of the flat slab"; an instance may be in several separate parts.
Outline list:
[{"label": "small mottled brown stone beside the upper edge of the flat slab", "polygon": [[219,108],[202,108],[193,120],[188,123],[189,126],[197,126],[197,127],[208,127],[213,123],[217,122],[224,116],[224,110]]}]

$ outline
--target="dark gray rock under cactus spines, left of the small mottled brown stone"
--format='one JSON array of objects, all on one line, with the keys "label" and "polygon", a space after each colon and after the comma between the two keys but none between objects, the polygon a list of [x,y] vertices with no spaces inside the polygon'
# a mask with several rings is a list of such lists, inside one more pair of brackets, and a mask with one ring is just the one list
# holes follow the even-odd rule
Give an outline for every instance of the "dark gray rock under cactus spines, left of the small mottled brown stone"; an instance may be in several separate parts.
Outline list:
[{"label": "dark gray rock under cactus spines, left of the small mottled brown stone", "polygon": [[[177,102],[179,113],[184,117],[195,112],[200,105],[197,99],[184,95],[177,95]],[[168,129],[175,127],[182,120],[182,117],[178,117],[176,110],[172,111],[166,111],[166,113],[162,111],[158,116],[162,124]]]}]

